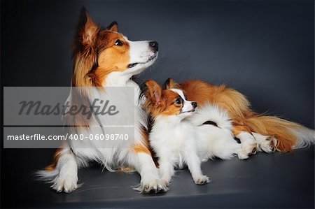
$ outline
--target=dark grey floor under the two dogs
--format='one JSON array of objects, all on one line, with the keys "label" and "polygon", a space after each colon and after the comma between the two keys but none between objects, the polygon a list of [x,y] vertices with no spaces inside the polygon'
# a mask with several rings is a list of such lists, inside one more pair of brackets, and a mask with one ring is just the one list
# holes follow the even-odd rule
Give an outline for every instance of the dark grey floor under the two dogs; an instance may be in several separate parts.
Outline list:
[{"label": "dark grey floor under the two dogs", "polygon": [[[21,150],[10,150],[10,154],[18,152]],[[102,172],[99,166],[79,172],[83,185],[75,192],[57,194],[32,176],[36,166],[48,163],[50,150],[22,152],[29,153],[20,159],[20,165],[5,163],[5,207],[314,208],[314,147],[293,154],[259,153],[245,161],[208,161],[202,165],[212,180],[208,185],[195,185],[184,169],[176,173],[169,192],[159,195],[134,191],[137,173]]]}]

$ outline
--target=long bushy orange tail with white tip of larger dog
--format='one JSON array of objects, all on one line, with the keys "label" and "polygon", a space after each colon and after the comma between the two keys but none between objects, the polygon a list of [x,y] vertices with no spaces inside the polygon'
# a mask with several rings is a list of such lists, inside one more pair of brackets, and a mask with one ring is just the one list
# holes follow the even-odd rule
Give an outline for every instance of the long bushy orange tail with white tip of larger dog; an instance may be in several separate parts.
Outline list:
[{"label": "long bushy orange tail with white tip of larger dog", "polygon": [[249,117],[246,125],[258,134],[274,136],[278,140],[276,147],[281,152],[291,152],[315,143],[314,130],[279,117]]}]

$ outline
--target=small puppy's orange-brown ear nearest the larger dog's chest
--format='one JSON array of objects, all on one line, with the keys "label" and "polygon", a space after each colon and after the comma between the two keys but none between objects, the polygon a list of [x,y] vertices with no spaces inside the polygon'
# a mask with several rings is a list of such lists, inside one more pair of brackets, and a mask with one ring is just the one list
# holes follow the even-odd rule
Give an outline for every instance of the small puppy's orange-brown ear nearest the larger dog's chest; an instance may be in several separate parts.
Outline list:
[{"label": "small puppy's orange-brown ear nearest the larger dog's chest", "polygon": [[146,99],[153,101],[155,104],[160,104],[162,96],[162,87],[154,80],[148,80],[142,86],[143,94]]}]

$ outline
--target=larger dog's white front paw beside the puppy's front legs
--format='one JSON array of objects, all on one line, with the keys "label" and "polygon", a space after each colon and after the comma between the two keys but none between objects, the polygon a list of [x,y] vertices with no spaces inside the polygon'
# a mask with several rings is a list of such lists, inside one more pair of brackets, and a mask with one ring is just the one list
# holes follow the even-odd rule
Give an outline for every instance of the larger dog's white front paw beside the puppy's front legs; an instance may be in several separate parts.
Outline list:
[{"label": "larger dog's white front paw beside the puppy's front legs", "polygon": [[142,178],[135,189],[144,194],[167,192],[167,186],[158,178]]}]

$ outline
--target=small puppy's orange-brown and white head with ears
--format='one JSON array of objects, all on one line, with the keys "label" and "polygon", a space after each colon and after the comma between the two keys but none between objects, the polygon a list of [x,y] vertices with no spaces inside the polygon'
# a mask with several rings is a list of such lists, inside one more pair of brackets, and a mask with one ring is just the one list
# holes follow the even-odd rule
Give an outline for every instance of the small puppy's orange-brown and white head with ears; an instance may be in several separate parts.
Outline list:
[{"label": "small puppy's orange-brown and white head with ears", "polygon": [[173,85],[162,88],[154,80],[148,80],[141,85],[141,96],[145,96],[144,109],[153,119],[169,117],[183,120],[193,115],[197,102],[188,101],[181,89]]}]

